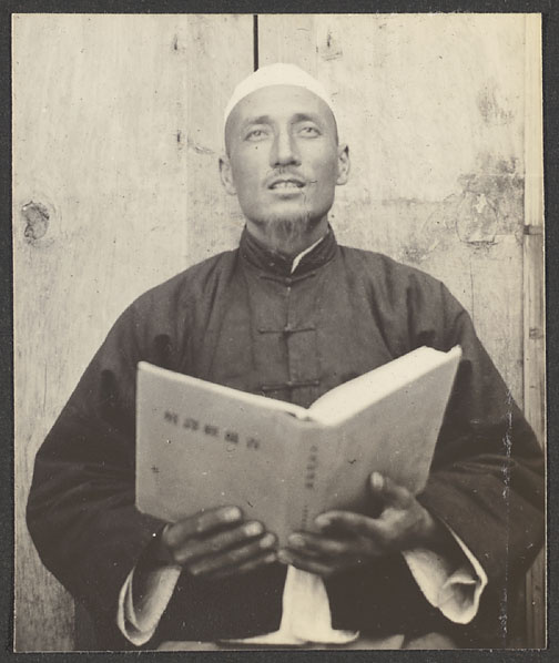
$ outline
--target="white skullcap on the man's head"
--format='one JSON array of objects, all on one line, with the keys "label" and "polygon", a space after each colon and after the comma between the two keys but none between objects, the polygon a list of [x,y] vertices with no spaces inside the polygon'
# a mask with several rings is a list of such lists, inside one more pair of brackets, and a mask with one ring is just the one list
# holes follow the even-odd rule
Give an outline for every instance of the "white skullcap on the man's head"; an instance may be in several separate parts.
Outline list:
[{"label": "white skullcap on the man's head", "polygon": [[231,111],[242,99],[251,94],[251,92],[255,92],[261,88],[270,88],[271,85],[296,85],[297,88],[306,88],[316,94],[316,96],[319,96],[329,108],[333,115],[336,115],[334,106],[332,105],[332,99],[321,82],[306,71],[303,71],[296,64],[277,62],[276,64],[268,64],[267,67],[257,69],[254,73],[238,83],[225,106],[223,126],[225,128]]}]

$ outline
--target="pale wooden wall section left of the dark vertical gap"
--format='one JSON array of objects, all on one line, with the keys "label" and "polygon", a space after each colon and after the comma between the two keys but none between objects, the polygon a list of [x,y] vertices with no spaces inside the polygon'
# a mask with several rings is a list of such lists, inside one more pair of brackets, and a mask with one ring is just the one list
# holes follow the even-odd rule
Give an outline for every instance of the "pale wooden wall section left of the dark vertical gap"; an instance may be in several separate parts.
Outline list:
[{"label": "pale wooden wall section left of the dark vertical gap", "polygon": [[251,70],[251,17],[13,17],[17,651],[72,647],[24,523],[35,451],[123,308],[234,244],[220,115]]}]

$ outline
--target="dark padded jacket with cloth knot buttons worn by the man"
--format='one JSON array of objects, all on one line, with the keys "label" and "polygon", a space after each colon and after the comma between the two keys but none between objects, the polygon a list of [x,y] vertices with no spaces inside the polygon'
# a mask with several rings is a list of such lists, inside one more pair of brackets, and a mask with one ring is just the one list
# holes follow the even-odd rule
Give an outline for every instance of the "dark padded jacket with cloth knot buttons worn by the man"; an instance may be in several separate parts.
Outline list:
[{"label": "dark padded jacket with cloth knot buttons worn by the man", "polygon": [[[463,360],[419,499],[489,577],[478,618],[449,624],[400,555],[326,586],[334,628],[447,630],[469,646],[502,645],[510,583],[541,545],[542,456],[468,314],[440,282],[341,247],[332,232],[293,275],[289,267],[245,232],[238,249],[191,267],[122,314],[37,456],[28,524],[41,559],[87,605],[100,649],[130,646],[115,626],[119,591],[162,527],[134,507],[138,361],[307,407],[421,345],[459,344]],[[284,580],[280,564],[220,581],[183,573],[148,646],[274,631]]]}]

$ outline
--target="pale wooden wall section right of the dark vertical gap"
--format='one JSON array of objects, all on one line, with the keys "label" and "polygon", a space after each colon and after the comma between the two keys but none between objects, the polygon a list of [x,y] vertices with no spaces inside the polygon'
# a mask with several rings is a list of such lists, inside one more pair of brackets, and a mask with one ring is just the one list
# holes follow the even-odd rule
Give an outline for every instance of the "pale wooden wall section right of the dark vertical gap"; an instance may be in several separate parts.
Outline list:
[{"label": "pale wooden wall section right of the dark vertical gap", "polygon": [[[261,64],[294,62],[335,99],[338,241],[441,278],[543,443],[540,32],[536,14],[258,19]],[[541,554],[517,644],[546,642],[545,573]]]}]

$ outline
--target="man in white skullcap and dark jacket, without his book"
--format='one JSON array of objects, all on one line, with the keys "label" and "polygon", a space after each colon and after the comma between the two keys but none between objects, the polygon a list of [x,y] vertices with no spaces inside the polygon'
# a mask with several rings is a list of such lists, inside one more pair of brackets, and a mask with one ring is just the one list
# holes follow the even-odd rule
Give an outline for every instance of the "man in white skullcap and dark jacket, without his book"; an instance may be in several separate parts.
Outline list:
[{"label": "man in white skullcap and dark jacket, without his book", "polygon": [[[359,635],[502,646],[510,590],[542,539],[542,458],[468,315],[429,276],[337,245],[328,211],[349,152],[308,74],[276,64],[243,81],[225,146],[241,245],[140,297],[96,353],[37,457],[28,523],[43,562],[87,605],[102,649]],[[281,550],[238,504],[186,506],[176,523],[135,510],[138,361],[307,407],[416,347],[456,344],[417,498],[370,468],[369,516],[323,513]]]}]

